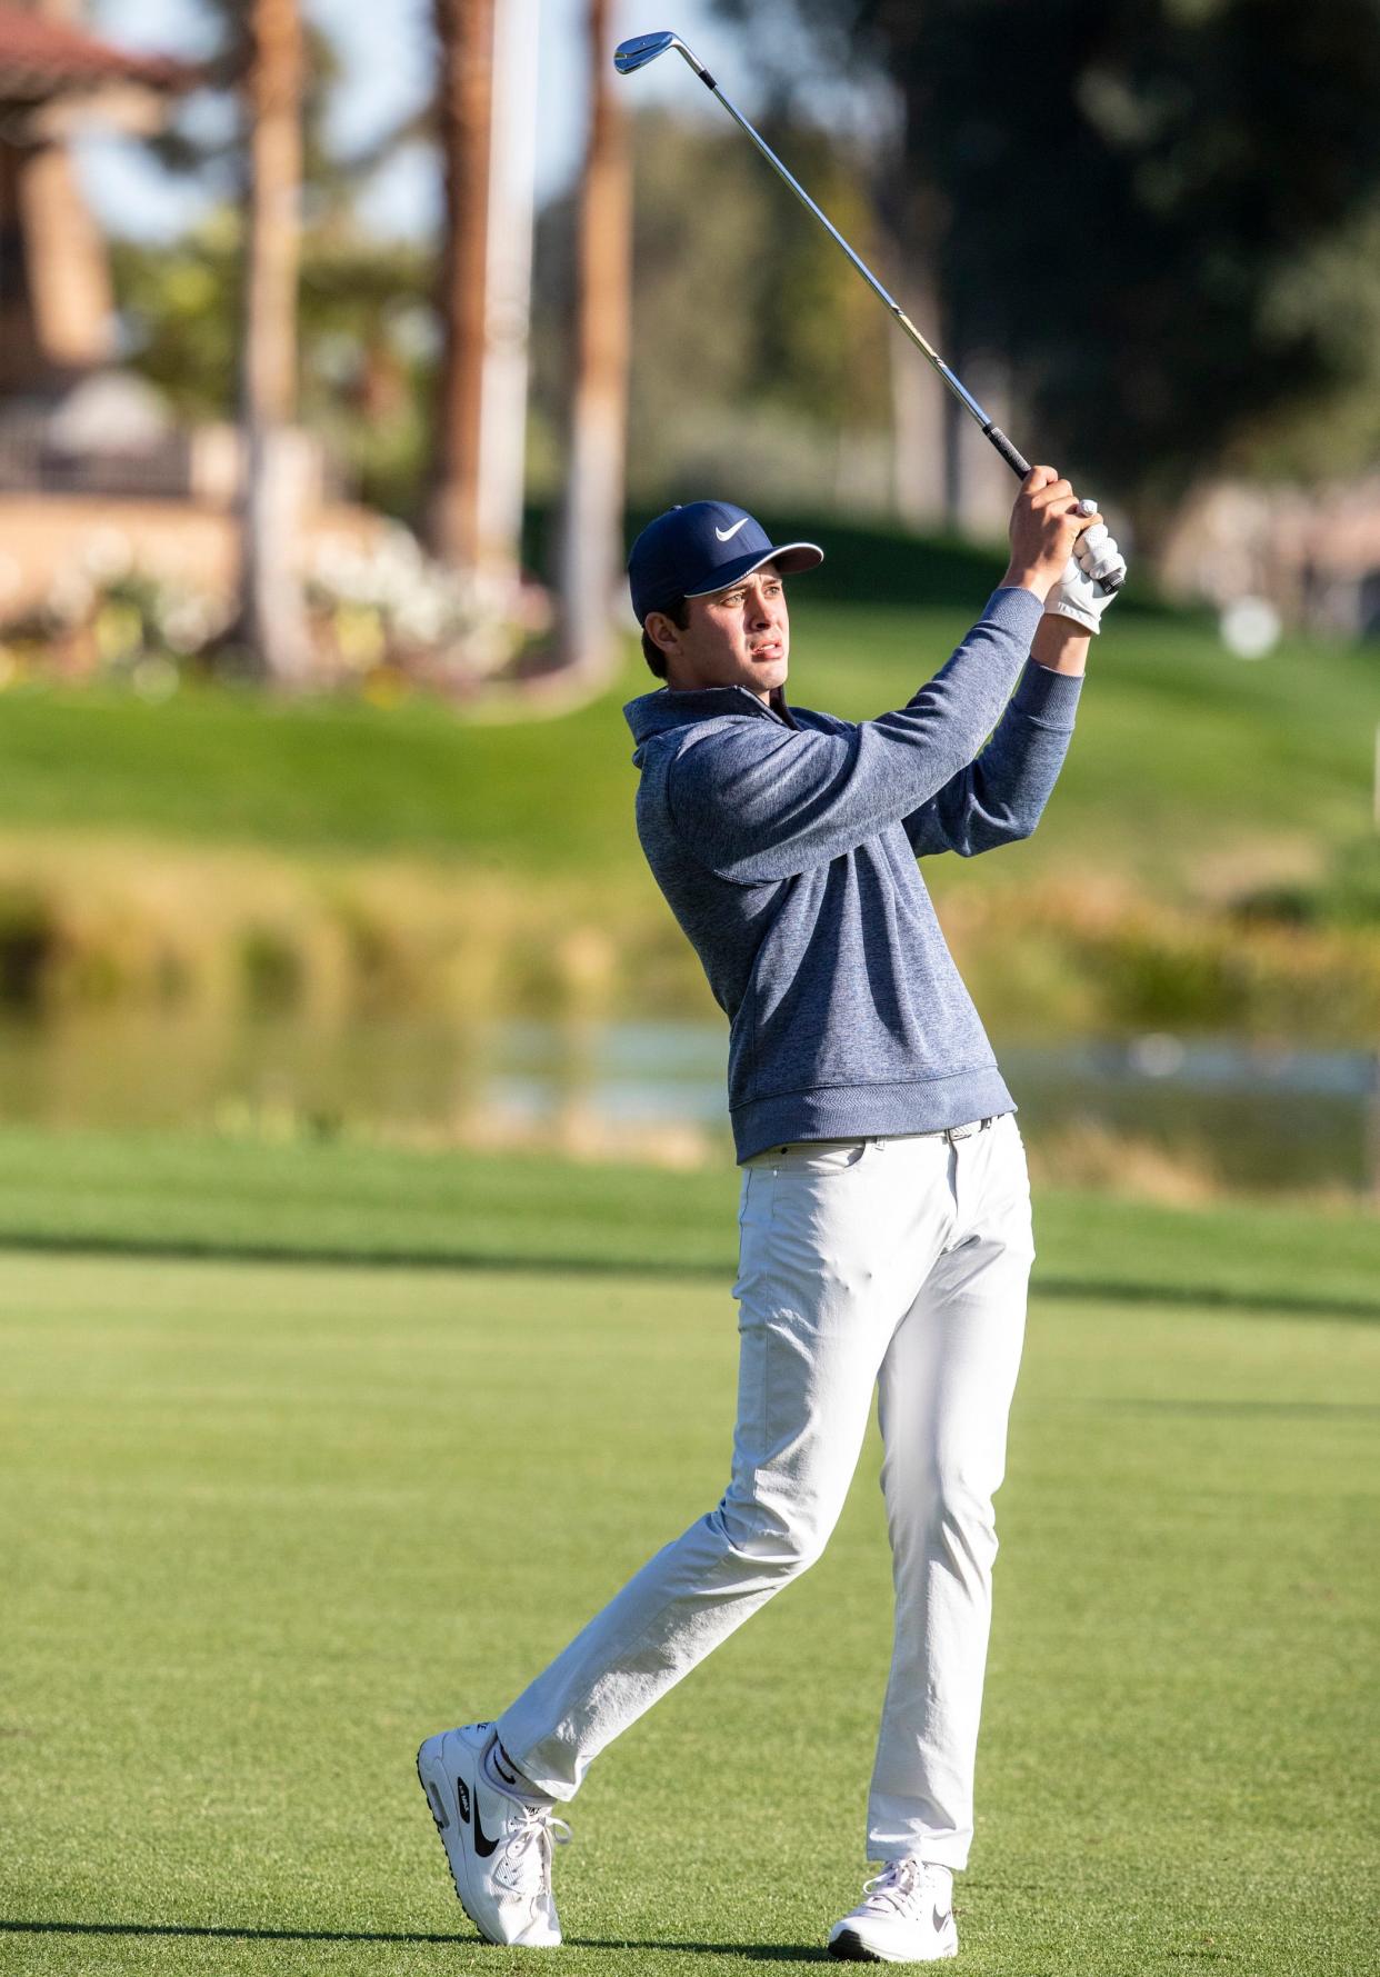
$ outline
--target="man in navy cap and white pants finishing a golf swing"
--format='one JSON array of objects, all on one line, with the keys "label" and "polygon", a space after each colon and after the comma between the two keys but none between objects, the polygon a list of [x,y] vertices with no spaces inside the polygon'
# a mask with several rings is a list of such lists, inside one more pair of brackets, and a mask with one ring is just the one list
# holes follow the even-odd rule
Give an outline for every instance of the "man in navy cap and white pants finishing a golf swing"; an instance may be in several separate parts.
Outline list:
[{"label": "man in navy cap and white pants finishing a golf swing", "polygon": [[1089,637],[1125,563],[1036,467],[1010,565],[913,700],[842,722],[785,698],[785,577],[822,559],[692,502],[633,544],[637,828],[730,1018],[741,1166],[728,1489],[492,1724],[417,1769],[455,1886],[496,1943],[552,1945],[556,1805],[591,1760],[820,1556],[872,1390],[896,1645],[868,1799],[882,1872],[838,1957],[951,1957],[1002,1479],[1034,1259],[1016,1107],[917,858],[1028,836],[1064,761]]}]

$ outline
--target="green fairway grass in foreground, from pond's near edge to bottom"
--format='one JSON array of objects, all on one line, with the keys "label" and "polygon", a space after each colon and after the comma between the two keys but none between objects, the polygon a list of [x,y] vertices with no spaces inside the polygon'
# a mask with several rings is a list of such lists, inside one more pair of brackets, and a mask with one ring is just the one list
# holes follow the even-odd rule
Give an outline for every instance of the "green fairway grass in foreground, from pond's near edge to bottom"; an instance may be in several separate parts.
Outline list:
[{"label": "green fairway grass in foreground, from pond's near edge to bottom", "polygon": [[[858,1896],[878,1447],[593,1767],[567,1945],[413,1775],[726,1479],[732,1170],[0,1133],[0,1971],[819,1965]],[[1052,1196],[959,1969],[1366,1973],[1376,1224]]]}]

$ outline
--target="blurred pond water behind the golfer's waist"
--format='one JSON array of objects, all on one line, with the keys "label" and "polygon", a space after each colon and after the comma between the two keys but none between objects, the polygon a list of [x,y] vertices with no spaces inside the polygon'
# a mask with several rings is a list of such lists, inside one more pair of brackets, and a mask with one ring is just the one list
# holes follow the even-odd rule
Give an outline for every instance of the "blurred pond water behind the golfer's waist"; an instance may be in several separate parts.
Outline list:
[{"label": "blurred pond water behind the golfer's waist", "polygon": [[[1380,1058],[1164,1034],[998,1040],[1022,1133],[1046,1170],[1070,1133],[1208,1166],[1242,1188],[1380,1194]],[[726,1034],[694,1022],[378,1020],[334,1030],[146,1016],[0,1024],[0,1117],[34,1125],[457,1139],[583,1121],[633,1157],[658,1133],[728,1153]]]}]

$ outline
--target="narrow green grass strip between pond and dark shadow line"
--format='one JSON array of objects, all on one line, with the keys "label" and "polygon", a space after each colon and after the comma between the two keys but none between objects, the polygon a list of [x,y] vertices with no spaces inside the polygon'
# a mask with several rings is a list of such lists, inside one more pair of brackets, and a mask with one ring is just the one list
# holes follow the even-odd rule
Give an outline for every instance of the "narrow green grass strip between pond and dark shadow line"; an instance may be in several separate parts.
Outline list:
[{"label": "narrow green grass strip between pond and dark shadow line", "polygon": [[[0,1125],[0,1246],[419,1269],[732,1277],[739,1172]],[[1178,1208],[1038,1188],[1050,1295],[1380,1319],[1380,1226],[1360,1208]],[[1283,1303],[1281,1303],[1283,1301]]]}]

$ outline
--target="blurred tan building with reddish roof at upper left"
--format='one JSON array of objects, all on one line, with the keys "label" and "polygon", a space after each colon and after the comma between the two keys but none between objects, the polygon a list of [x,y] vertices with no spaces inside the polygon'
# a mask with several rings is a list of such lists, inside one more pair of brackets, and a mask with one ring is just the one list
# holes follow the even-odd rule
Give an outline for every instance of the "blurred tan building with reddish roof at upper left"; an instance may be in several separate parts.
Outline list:
[{"label": "blurred tan building with reddish roof at upper left", "polygon": [[[91,546],[227,593],[239,542],[239,435],[188,427],[119,366],[109,253],[83,200],[71,140],[93,125],[150,136],[202,69],[129,53],[65,0],[0,4],[0,621],[43,605]],[[320,449],[301,441],[308,510],[334,506]],[[330,512],[328,510],[330,506]],[[119,538],[119,552],[113,552]]]}]

